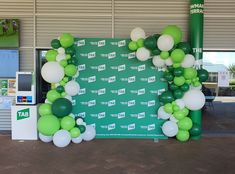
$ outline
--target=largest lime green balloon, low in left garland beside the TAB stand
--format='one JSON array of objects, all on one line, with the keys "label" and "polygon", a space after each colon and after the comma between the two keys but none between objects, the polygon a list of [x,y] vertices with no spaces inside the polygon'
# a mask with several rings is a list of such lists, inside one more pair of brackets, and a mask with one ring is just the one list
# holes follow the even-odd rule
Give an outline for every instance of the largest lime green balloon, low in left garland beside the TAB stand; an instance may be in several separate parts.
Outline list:
[{"label": "largest lime green balloon, low in left garland beside the TAB stand", "polygon": [[38,131],[46,136],[52,136],[60,129],[60,122],[54,115],[45,115],[38,120]]}]

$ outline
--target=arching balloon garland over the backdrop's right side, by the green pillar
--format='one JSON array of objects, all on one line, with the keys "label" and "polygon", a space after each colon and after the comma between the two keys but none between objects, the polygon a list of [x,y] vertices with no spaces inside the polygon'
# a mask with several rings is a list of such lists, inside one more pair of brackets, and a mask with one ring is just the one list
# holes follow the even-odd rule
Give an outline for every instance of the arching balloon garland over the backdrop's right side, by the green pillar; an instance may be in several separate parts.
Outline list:
[{"label": "arching balloon garland over the backdrop's right side, by the green pillar", "polygon": [[137,27],[130,37],[128,47],[136,51],[139,61],[152,58],[153,65],[165,71],[163,78],[168,83],[168,90],[159,96],[162,106],[157,111],[158,118],[166,120],[162,132],[168,137],[176,136],[182,142],[190,135],[200,135],[200,126],[193,124],[189,111],[200,110],[205,104],[201,88],[208,72],[201,67],[196,69],[191,46],[182,42],[181,29],[169,25],[161,34],[146,37],[144,30]]}]

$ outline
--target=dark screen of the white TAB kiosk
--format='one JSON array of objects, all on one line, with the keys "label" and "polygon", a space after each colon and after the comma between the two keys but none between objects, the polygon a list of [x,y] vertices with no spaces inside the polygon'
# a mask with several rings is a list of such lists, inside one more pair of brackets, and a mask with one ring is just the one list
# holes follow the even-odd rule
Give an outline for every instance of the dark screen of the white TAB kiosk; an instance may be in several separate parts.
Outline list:
[{"label": "dark screen of the white TAB kiosk", "polygon": [[18,75],[18,91],[31,91],[32,74]]}]

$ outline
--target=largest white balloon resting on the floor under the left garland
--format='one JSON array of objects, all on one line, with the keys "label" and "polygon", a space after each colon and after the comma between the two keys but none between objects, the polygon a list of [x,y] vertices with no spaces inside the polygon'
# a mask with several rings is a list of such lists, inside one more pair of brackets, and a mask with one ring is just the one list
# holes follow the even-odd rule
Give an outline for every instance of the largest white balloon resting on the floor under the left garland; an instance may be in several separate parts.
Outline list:
[{"label": "largest white balloon resting on the floor under the left garland", "polygon": [[53,143],[57,147],[66,147],[71,141],[70,133],[67,130],[61,129],[53,136]]}]

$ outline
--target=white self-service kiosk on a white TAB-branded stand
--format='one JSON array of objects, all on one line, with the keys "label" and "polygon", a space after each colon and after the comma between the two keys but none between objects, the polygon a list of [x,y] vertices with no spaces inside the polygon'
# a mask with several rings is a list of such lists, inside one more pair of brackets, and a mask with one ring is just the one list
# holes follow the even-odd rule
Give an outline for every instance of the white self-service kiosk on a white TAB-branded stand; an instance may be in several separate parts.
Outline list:
[{"label": "white self-service kiosk on a white TAB-branded stand", "polygon": [[11,107],[13,140],[37,140],[36,82],[33,72],[16,72],[16,104]]}]

